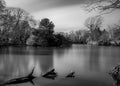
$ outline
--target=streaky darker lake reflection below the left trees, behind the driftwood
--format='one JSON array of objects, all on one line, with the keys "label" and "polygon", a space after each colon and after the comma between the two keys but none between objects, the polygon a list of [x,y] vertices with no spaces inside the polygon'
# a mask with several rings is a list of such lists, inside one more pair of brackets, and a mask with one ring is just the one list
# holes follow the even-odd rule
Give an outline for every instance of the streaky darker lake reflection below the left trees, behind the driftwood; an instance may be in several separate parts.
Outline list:
[{"label": "streaky darker lake reflection below the left trees, behind the driftwood", "polygon": [[24,76],[34,66],[34,73],[37,76],[53,67],[53,51],[51,49],[8,47],[0,49],[0,52],[0,77],[4,77],[4,79]]}]

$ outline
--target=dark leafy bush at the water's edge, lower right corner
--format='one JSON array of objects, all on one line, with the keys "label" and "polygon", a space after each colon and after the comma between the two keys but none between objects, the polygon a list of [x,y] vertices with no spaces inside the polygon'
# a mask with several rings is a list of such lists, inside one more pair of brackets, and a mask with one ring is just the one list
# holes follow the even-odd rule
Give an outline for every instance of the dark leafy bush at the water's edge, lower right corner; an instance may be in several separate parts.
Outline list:
[{"label": "dark leafy bush at the water's edge, lower right corner", "polygon": [[120,86],[120,65],[115,66],[110,72],[109,75],[115,81],[116,86]]}]

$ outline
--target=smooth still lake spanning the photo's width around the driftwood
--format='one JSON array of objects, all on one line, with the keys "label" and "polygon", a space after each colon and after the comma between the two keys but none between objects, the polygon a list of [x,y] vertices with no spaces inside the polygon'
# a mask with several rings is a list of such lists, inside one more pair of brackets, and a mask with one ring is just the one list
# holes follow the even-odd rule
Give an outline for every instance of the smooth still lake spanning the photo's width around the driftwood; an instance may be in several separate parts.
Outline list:
[{"label": "smooth still lake spanning the photo's width around the driftwood", "polygon": [[[34,76],[38,77],[34,80],[36,86],[114,86],[108,72],[117,63],[120,63],[120,47],[1,47],[0,79],[25,76],[35,67]],[[58,73],[56,80],[41,78],[52,68]],[[71,71],[75,71],[76,78],[64,78]]]}]

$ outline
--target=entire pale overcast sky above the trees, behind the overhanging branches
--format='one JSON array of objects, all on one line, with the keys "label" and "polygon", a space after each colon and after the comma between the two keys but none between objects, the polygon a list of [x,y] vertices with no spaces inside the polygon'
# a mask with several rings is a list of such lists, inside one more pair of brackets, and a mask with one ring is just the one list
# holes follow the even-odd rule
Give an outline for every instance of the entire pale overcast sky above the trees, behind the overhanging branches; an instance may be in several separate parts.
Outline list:
[{"label": "entire pale overcast sky above the trees, behind the overhanging branches", "polygon": [[[96,12],[88,13],[82,9],[87,0],[5,0],[7,6],[20,7],[35,19],[49,18],[55,24],[55,31],[71,31],[84,27],[84,21]],[[89,0],[90,1],[90,0]],[[93,0],[91,0],[93,1]],[[105,15],[104,26],[117,22],[120,11]],[[106,25],[107,24],[107,25]]]}]

